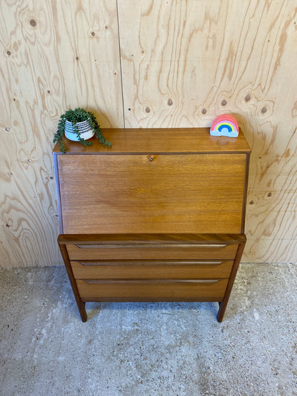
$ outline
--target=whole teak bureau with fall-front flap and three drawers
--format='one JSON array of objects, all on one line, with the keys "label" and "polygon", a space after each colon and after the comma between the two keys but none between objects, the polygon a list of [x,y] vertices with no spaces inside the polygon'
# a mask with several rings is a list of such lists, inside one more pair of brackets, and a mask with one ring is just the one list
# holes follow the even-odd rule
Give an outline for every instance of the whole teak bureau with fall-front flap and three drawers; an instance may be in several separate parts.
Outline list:
[{"label": "whole teak bureau with fall-front flap and three drawers", "polygon": [[243,133],[103,133],[111,148],[54,148],[58,242],[81,319],[87,301],[218,301],[221,322],[246,243]]}]

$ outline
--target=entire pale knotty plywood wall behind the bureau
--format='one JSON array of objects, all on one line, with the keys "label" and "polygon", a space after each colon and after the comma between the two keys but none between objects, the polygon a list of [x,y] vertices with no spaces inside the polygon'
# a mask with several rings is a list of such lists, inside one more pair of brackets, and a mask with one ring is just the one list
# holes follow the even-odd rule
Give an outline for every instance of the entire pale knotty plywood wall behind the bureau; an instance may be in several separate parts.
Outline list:
[{"label": "entire pale knotty plywood wall behind the bureau", "polygon": [[296,262],[295,1],[2,0],[0,19],[1,268],[62,262],[51,141],[76,106],[119,128],[235,115],[252,148],[243,261]]}]

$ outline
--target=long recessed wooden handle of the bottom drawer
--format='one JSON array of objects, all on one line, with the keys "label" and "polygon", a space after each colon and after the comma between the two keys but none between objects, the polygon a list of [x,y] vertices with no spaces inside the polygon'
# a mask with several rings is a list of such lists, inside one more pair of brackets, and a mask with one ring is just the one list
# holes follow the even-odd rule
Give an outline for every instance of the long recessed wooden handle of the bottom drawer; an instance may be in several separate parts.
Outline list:
[{"label": "long recessed wooden handle of the bottom drawer", "polygon": [[199,285],[212,285],[218,283],[220,279],[81,279],[89,284],[99,283],[197,283]]}]

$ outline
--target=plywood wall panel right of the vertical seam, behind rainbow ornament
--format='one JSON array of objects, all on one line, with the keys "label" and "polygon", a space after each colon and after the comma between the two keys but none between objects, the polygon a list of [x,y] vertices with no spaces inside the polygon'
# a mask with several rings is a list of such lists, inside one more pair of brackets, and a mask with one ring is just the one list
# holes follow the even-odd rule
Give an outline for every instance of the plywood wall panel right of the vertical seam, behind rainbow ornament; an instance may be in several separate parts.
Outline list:
[{"label": "plywood wall panel right of the vertical seam, behind rainbow ornament", "polygon": [[296,2],[119,1],[119,31],[126,126],[233,113],[252,148],[243,260],[296,262]]}]

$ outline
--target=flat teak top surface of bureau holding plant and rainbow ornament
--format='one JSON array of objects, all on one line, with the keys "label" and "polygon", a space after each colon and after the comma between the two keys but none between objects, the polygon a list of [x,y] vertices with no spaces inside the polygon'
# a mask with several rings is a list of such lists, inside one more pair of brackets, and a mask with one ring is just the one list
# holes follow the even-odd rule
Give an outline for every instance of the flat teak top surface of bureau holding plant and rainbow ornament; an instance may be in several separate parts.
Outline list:
[{"label": "flat teak top surface of bureau holding plant and rainbow ornament", "polygon": [[[64,138],[66,155],[71,154],[133,154],[133,153],[250,153],[246,138],[239,131],[238,138],[210,136],[209,128],[106,128],[102,130],[112,146],[102,146],[91,138],[92,146]],[[59,146],[54,155],[61,154]]]}]

